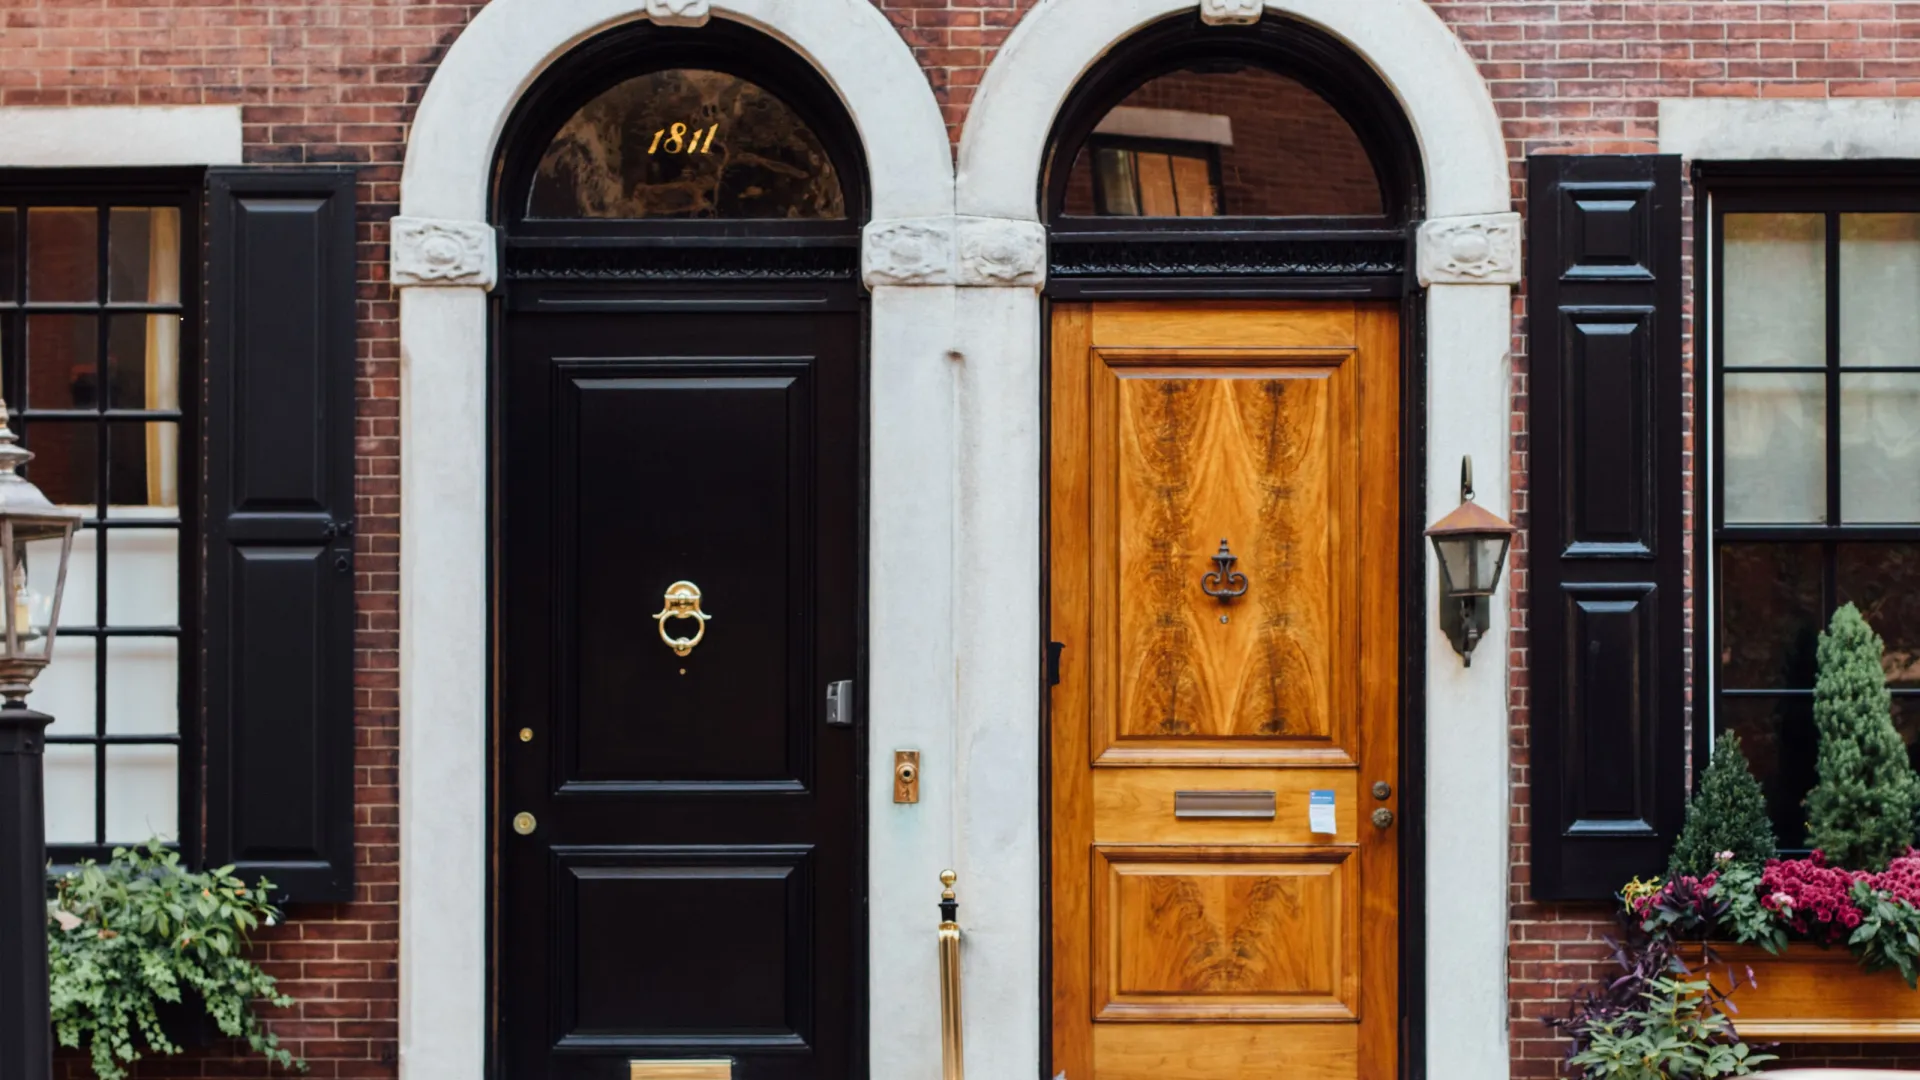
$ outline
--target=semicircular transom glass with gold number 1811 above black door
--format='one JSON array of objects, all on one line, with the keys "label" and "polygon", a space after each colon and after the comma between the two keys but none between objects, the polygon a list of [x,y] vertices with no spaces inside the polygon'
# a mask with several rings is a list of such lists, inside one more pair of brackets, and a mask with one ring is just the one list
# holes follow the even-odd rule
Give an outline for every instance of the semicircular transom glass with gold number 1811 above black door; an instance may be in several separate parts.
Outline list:
[{"label": "semicircular transom glass with gold number 1811 above black door", "polygon": [[843,219],[820,136],[722,71],[628,79],[580,108],[540,158],[528,217]]}]

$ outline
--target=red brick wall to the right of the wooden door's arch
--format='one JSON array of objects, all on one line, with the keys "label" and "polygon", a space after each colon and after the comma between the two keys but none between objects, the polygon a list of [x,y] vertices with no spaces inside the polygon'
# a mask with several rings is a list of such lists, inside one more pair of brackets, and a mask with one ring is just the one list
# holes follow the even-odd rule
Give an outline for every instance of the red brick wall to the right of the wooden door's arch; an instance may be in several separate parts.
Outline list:
[{"label": "red brick wall to the right of the wooden door's arch", "polygon": [[[1480,63],[1507,133],[1513,206],[1524,211],[1528,154],[1634,154],[1657,150],[1659,98],[1822,98],[1920,94],[1920,4],[1788,2],[1459,2],[1434,10]],[[1686,209],[1692,281],[1692,206]],[[1692,317],[1692,309],[1690,309]],[[1688,392],[1692,394],[1692,321]],[[1513,321],[1513,507],[1526,525],[1526,317]],[[1690,411],[1692,415],[1692,402]],[[1686,434],[1688,486],[1693,440]],[[1692,515],[1692,511],[1690,511]],[[1690,527],[1692,532],[1692,527]],[[1540,1022],[1609,970],[1601,905],[1548,905],[1528,892],[1528,640],[1526,552],[1513,555],[1509,638],[1513,874],[1509,995],[1513,1076],[1553,1076],[1565,1043]],[[1692,582],[1690,582],[1692,584]],[[1690,615],[1692,617],[1692,615]],[[1895,1047],[1793,1047],[1814,1063],[1912,1065]]]}]

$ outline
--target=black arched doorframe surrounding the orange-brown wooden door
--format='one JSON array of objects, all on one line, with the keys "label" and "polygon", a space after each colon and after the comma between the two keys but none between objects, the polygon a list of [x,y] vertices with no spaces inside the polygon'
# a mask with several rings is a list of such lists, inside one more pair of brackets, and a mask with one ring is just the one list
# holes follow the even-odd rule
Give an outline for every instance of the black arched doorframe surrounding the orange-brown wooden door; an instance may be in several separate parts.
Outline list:
[{"label": "black arched doorframe surrounding the orange-brown wooden door", "polygon": [[[1206,63],[1277,71],[1321,94],[1361,138],[1380,179],[1380,217],[1068,217],[1068,171],[1108,110],[1160,75]],[[1048,273],[1041,292],[1041,644],[1052,640],[1052,302],[1398,300],[1400,302],[1400,1078],[1427,1076],[1427,290],[1413,271],[1427,213],[1419,140],[1398,98],[1344,42],[1267,13],[1210,27],[1196,13],[1154,23],[1106,54],[1062,106],[1039,177]],[[1041,1078],[1052,1068],[1052,709],[1041,701]],[[1417,807],[1407,813],[1405,807]]]}]

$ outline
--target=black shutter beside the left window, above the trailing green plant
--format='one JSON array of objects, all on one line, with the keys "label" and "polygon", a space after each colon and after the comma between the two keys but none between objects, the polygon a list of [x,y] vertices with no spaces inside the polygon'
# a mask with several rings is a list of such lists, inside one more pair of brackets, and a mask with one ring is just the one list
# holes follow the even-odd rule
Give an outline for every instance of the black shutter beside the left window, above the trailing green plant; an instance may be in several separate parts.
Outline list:
[{"label": "black shutter beside the left window, above the trailing green plant", "polygon": [[353,171],[207,177],[205,859],[353,897]]}]

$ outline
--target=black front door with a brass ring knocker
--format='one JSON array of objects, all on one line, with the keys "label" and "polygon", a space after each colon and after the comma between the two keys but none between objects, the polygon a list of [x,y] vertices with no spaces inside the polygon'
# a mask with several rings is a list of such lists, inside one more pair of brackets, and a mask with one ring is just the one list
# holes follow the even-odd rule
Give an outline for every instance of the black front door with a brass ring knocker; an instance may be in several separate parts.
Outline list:
[{"label": "black front door with a brass ring knocker", "polygon": [[852,1076],[860,319],[515,313],[505,346],[495,1074]]}]

